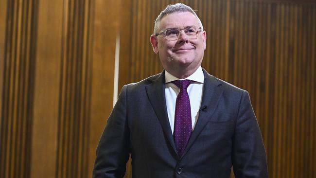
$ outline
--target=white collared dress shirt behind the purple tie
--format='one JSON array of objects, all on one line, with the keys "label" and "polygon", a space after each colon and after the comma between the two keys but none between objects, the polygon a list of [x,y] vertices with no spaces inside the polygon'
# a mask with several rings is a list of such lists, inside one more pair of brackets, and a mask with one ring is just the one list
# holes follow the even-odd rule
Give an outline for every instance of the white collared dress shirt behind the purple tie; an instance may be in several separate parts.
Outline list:
[{"label": "white collared dress shirt behind the purple tie", "polygon": [[172,81],[175,81],[175,80],[192,80],[193,81],[187,89],[189,98],[190,98],[192,130],[193,130],[198,118],[198,114],[199,114],[198,111],[201,107],[201,102],[202,102],[203,83],[204,83],[204,74],[202,71],[202,67],[200,66],[192,75],[184,79],[178,79],[175,76],[171,75],[169,72],[165,71],[166,106],[167,106],[168,118],[169,118],[172,133],[174,133],[174,127],[175,127],[176,96],[180,92],[180,89],[175,84],[171,83]]}]

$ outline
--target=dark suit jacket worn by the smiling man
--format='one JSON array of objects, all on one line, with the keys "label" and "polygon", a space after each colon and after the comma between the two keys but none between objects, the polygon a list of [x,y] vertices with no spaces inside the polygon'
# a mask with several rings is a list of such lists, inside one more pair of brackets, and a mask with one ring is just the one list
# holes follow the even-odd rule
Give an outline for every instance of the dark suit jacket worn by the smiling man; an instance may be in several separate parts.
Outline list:
[{"label": "dark suit jacket worn by the smiling man", "polygon": [[197,123],[179,158],[165,102],[164,71],[125,85],[97,148],[93,178],[267,178],[261,132],[247,91],[205,70]]}]

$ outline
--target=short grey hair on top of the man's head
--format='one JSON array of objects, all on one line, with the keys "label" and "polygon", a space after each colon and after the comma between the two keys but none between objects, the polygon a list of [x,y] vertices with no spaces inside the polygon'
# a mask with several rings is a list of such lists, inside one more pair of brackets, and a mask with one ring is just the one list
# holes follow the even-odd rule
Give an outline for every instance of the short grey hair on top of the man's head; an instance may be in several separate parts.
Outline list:
[{"label": "short grey hair on top of the man's head", "polygon": [[193,9],[185,4],[182,3],[176,3],[176,4],[169,4],[163,11],[161,11],[161,13],[159,14],[159,16],[156,18],[155,20],[155,28],[154,28],[154,34],[157,35],[158,34],[158,25],[160,20],[168,15],[168,14],[172,14],[172,13],[178,13],[178,12],[191,12],[196,18],[197,21],[199,23],[199,25],[202,27],[203,30],[203,25],[202,22],[200,20],[200,18],[197,17],[196,13],[193,11]]}]

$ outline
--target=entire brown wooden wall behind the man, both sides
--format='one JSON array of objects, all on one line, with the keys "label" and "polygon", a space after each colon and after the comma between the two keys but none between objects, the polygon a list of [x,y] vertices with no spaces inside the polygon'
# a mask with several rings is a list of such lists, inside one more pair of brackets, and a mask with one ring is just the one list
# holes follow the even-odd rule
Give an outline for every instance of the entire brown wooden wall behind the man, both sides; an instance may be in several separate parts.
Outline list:
[{"label": "entire brown wooden wall behind the man, both sides", "polygon": [[176,2],[207,31],[202,66],[249,91],[269,176],[316,177],[312,0],[0,0],[0,177],[90,177],[116,39],[119,89],[162,71],[149,36]]}]

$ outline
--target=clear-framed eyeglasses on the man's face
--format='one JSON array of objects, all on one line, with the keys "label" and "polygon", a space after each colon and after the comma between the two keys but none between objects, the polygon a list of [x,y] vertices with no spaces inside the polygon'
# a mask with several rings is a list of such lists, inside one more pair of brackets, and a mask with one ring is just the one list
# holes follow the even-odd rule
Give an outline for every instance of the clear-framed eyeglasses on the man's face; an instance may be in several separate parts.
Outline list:
[{"label": "clear-framed eyeglasses on the man's face", "polygon": [[198,33],[202,31],[202,27],[191,26],[184,29],[169,28],[161,30],[158,34],[156,34],[156,36],[164,34],[168,40],[173,41],[178,39],[181,31],[183,31],[189,39],[196,39]]}]

